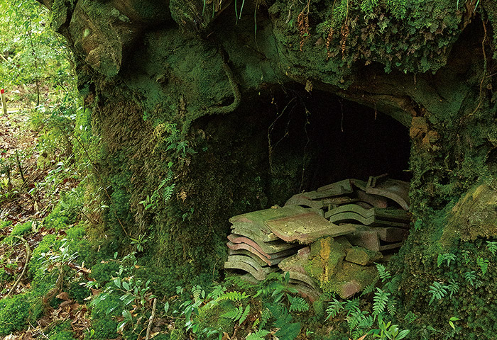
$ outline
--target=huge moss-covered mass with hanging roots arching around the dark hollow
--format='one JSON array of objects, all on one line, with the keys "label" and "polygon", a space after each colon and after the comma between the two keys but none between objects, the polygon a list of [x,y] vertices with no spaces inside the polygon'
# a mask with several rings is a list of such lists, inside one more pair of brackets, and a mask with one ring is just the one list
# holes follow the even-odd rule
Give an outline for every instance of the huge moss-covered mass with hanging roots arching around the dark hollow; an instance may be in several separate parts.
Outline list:
[{"label": "huge moss-covered mass with hanging roots arching around the dark hollow", "polygon": [[[401,310],[445,330],[457,314],[460,339],[495,334],[495,1],[44,2],[93,108],[100,232],[115,249],[151,237],[161,289],[217,278],[227,219],[315,188],[323,154],[337,165],[321,180],[343,179],[341,137],[317,152],[312,133],[326,132],[312,126],[328,119],[339,135],[355,106],[352,132],[378,113],[410,135]],[[459,290],[429,306],[434,282]]]}]

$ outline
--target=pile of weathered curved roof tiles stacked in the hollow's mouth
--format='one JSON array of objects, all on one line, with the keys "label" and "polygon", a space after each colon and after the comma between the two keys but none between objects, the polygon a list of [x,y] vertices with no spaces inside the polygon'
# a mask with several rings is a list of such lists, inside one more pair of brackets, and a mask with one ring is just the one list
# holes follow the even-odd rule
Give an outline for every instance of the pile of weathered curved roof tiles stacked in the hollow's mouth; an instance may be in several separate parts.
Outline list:
[{"label": "pile of weathered curved roof tiles stacked in the hollow's mouth", "polygon": [[[303,266],[322,237],[370,251],[400,247],[410,223],[409,183],[388,176],[346,179],[300,193],[282,208],[232,217],[224,268],[263,280],[283,271],[300,288],[316,290]],[[302,290],[301,289],[301,290]]]}]

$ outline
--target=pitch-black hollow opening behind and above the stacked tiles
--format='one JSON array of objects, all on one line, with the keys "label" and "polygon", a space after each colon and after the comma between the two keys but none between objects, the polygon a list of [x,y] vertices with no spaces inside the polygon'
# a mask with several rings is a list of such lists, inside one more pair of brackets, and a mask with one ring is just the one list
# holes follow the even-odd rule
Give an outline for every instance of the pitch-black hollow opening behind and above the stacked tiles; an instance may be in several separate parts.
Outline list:
[{"label": "pitch-black hollow opening behind and above the stacked tiles", "polygon": [[276,110],[268,127],[271,168],[293,162],[300,172],[296,191],[381,174],[410,180],[409,131],[389,115],[316,90],[288,90],[273,103]]}]

